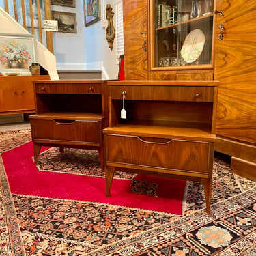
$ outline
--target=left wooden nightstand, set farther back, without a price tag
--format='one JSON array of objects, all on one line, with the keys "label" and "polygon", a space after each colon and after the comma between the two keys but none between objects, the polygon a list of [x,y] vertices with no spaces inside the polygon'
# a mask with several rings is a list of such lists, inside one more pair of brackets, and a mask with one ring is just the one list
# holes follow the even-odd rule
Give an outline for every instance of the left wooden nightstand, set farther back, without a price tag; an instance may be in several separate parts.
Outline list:
[{"label": "left wooden nightstand, set farther back, without a price tag", "polygon": [[102,170],[102,128],[107,126],[106,81],[34,81],[31,132],[35,165],[43,145],[98,150]]}]

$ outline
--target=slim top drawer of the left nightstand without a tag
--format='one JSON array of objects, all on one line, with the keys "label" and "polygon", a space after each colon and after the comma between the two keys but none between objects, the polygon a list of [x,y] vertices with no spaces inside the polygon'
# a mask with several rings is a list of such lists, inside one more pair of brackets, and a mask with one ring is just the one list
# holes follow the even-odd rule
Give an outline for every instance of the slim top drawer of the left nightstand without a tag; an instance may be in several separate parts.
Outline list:
[{"label": "slim top drawer of the left nightstand without a tag", "polygon": [[72,83],[35,84],[36,94],[100,94],[101,85],[98,83],[79,83],[74,86]]}]

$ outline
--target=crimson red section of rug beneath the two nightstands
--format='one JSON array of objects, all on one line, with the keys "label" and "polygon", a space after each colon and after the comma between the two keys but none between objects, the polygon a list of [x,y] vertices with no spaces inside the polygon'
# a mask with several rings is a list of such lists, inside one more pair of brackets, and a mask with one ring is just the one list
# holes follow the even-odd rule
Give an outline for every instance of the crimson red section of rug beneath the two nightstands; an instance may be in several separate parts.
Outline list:
[{"label": "crimson red section of rug beneath the two nightstands", "polygon": [[[96,150],[65,149],[61,153],[56,148],[44,149],[42,148],[40,160],[50,163],[46,164],[46,167],[50,167],[48,171],[41,162],[43,171],[35,166],[31,141],[2,153],[12,193],[111,203],[132,208],[138,208],[139,205],[142,209],[182,214],[186,185],[184,180],[120,175],[120,172],[114,177],[112,196],[106,197],[104,172],[100,169]],[[55,157],[56,155],[59,157]]]}]

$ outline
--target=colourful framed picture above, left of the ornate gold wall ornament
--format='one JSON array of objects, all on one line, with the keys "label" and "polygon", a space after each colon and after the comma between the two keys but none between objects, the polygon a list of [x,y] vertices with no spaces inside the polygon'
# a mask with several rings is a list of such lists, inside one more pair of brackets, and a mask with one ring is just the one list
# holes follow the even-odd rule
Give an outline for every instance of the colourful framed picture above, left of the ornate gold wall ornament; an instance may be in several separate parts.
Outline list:
[{"label": "colourful framed picture above, left of the ornate gold wall ornament", "polygon": [[83,0],[85,27],[100,20],[100,0]]}]

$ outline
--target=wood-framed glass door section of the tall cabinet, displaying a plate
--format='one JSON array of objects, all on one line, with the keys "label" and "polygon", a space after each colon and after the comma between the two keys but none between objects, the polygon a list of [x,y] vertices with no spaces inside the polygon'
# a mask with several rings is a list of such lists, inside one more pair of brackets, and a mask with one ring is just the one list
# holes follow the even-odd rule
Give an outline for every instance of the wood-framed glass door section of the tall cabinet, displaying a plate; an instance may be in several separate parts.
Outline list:
[{"label": "wood-framed glass door section of the tall cabinet, displaying a plate", "polygon": [[212,80],[213,5],[213,0],[150,1],[150,79],[168,71],[178,80]]}]

